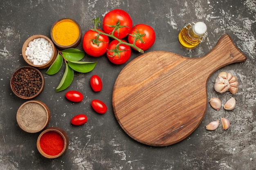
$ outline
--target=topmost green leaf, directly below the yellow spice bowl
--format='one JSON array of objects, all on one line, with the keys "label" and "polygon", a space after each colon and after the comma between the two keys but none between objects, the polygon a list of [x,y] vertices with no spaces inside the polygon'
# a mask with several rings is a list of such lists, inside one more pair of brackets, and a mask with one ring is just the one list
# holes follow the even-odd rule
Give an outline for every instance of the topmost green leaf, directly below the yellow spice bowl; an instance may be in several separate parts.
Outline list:
[{"label": "topmost green leaf, directly below the yellow spice bowl", "polygon": [[79,49],[65,49],[62,51],[62,55],[68,61],[79,61],[83,59],[85,52]]}]

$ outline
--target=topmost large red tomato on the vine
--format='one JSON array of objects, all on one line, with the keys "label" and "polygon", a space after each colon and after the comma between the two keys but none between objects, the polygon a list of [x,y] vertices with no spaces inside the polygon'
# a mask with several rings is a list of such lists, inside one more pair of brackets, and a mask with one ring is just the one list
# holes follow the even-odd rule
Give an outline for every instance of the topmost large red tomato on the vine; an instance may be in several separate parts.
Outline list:
[{"label": "topmost large red tomato on the vine", "polygon": [[108,12],[104,16],[102,23],[103,31],[107,34],[111,34],[115,26],[117,26],[117,30],[114,31],[114,36],[119,39],[125,38],[132,29],[132,19],[130,15],[121,9],[114,9]]}]

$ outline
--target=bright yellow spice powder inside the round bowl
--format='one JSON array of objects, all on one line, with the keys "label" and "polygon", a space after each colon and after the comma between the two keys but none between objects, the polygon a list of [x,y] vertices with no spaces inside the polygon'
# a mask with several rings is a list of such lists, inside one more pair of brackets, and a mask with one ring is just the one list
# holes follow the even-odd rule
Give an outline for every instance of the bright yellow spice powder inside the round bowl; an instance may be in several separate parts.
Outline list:
[{"label": "bright yellow spice powder inside the round bowl", "polygon": [[69,46],[79,38],[79,27],[74,21],[64,19],[52,28],[52,36],[59,45]]}]

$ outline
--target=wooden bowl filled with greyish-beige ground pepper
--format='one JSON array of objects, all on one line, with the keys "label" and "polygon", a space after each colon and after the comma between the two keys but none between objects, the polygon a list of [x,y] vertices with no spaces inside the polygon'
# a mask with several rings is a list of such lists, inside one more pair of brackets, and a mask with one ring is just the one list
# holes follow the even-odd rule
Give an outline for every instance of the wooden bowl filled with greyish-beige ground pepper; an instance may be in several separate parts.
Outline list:
[{"label": "wooden bowl filled with greyish-beige ground pepper", "polygon": [[49,108],[38,100],[23,103],[16,114],[20,128],[29,133],[43,130],[49,124],[50,117]]}]

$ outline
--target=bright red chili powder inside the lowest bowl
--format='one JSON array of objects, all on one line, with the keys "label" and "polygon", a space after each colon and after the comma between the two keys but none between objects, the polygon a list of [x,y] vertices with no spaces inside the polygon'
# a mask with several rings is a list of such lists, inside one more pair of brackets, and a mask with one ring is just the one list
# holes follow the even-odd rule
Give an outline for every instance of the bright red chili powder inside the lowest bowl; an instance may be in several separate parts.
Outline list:
[{"label": "bright red chili powder inside the lowest bowl", "polygon": [[55,156],[64,148],[64,139],[58,132],[45,132],[40,139],[40,147],[47,155]]}]

